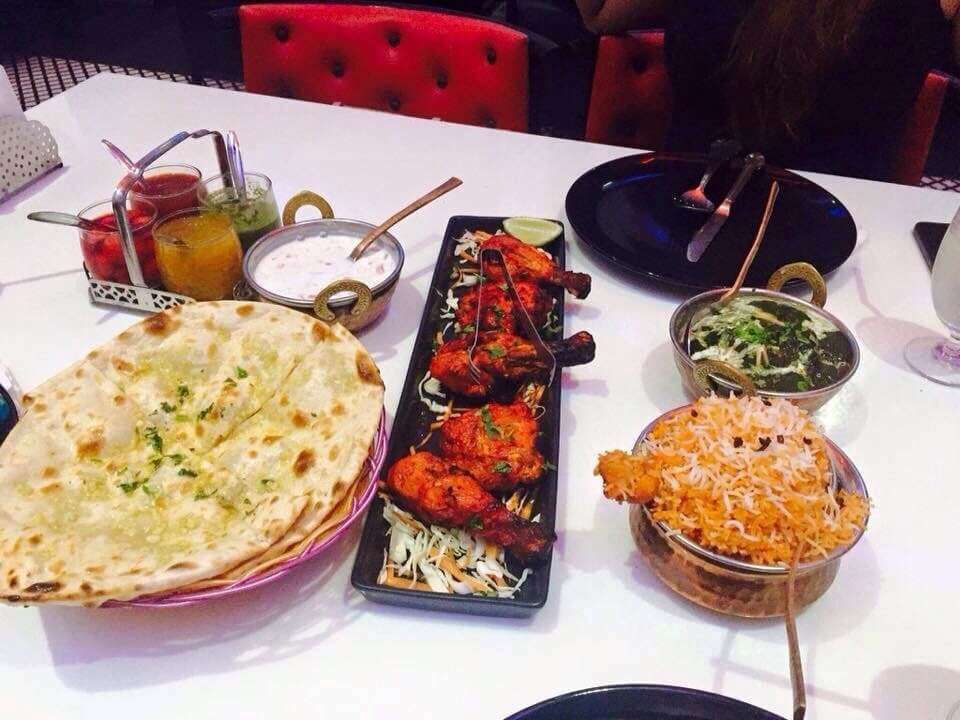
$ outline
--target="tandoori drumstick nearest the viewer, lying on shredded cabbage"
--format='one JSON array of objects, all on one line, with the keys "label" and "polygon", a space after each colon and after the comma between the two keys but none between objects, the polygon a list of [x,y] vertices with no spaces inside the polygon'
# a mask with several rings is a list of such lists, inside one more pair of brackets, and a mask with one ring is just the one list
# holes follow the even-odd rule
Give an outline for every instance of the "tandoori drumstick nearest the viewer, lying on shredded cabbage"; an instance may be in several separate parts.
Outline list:
[{"label": "tandoori drumstick nearest the viewer, lying on shredded cabbage", "polygon": [[476,480],[433,453],[397,460],[387,473],[387,487],[420,519],[465,528],[523,562],[546,557],[556,539],[539,523],[514,515]]}]

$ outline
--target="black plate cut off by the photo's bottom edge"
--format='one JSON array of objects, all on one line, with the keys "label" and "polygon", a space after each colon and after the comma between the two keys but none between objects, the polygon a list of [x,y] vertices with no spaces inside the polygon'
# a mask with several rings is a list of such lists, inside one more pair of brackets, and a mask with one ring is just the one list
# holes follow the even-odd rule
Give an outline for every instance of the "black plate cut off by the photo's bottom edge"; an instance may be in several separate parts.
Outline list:
[{"label": "black plate cut off by the photo's bottom edge", "polygon": [[783,720],[753,705],[669,685],[608,685],[578,690],[507,720]]}]

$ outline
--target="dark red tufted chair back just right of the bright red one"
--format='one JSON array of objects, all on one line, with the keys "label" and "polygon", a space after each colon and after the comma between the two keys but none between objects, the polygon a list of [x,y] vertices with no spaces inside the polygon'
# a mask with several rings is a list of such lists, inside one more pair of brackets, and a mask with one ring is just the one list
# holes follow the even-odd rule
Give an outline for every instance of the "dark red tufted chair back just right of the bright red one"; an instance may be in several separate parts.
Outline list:
[{"label": "dark red tufted chair back just right of the bright red one", "polygon": [[600,38],[587,140],[659,148],[670,124],[671,105],[662,31]]}]

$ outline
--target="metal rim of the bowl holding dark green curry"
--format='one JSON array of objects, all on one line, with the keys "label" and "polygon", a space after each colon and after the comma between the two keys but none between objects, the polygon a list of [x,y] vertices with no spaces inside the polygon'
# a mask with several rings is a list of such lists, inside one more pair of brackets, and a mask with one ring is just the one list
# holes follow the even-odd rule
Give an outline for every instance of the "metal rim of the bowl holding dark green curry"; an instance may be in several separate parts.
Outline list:
[{"label": "metal rim of the bowl holding dark green curry", "polygon": [[[680,331],[689,330],[689,328],[680,328],[680,316],[688,309],[693,309],[698,305],[704,305],[709,302],[713,302],[716,299],[719,299],[723,293],[726,292],[726,288],[717,288],[714,290],[707,290],[702,292],[699,295],[694,295],[692,298],[688,298],[683,303],[681,303],[676,310],[673,311],[673,314],[670,316],[670,342],[673,345],[674,352],[676,352],[680,357],[685,361],[685,364],[689,364],[689,369],[692,370],[696,361],[690,357],[690,352],[684,343],[686,338],[686,332],[684,337],[679,337]],[[805,401],[815,401],[823,397],[831,397],[834,393],[840,390],[844,384],[850,378],[853,377],[854,373],[857,372],[857,368],[860,367],[860,345],[857,343],[857,339],[854,336],[853,332],[848,328],[843,322],[837,318],[836,315],[829,312],[825,308],[820,307],[819,305],[814,305],[808,300],[803,298],[794,297],[784,292],[778,290],[767,290],[766,288],[743,288],[740,292],[737,293],[737,297],[741,295],[762,295],[764,297],[771,298],[773,300],[780,300],[782,302],[787,302],[795,305],[799,305],[805,310],[808,310],[812,313],[820,315],[824,319],[828,320],[833,324],[834,327],[843,335],[844,339],[847,341],[847,344],[850,347],[851,361],[850,369],[844,373],[843,377],[829,385],[824,385],[822,388],[815,388],[813,390],[802,390],[798,392],[785,392],[783,390],[764,390],[762,388],[757,388],[757,394],[761,397],[768,398],[783,398],[785,400],[790,400],[792,402],[803,403]],[[695,312],[695,310],[694,310]],[[731,383],[725,378],[716,377],[714,375],[710,376],[710,379],[713,380],[717,385],[724,388],[725,390],[739,390],[739,386],[735,383]]]}]

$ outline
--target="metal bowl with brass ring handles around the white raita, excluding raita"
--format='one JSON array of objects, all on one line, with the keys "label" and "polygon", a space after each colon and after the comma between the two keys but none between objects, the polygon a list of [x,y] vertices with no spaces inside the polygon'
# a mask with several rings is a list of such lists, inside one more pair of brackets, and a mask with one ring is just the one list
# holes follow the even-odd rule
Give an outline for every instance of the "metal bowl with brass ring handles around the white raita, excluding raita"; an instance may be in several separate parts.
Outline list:
[{"label": "metal bowl with brass ring handles around the white raita, excluding raita", "polygon": [[[296,222],[297,211],[309,205],[317,208],[322,215],[319,220]],[[277,245],[292,239],[294,235],[301,237],[304,232],[315,233],[319,237],[327,233],[356,236],[357,242],[363,238],[374,225],[361,220],[345,220],[335,218],[330,204],[322,197],[312,192],[301,192],[292,197],[283,208],[283,227],[267,233],[257,240],[243,258],[243,277],[246,287],[238,287],[237,295],[254,296],[260,300],[285,305],[294,310],[311,313],[324,322],[339,322],[348,330],[356,331],[365,328],[386,312],[390,298],[397,287],[400,270],[403,268],[403,248],[397,239],[388,232],[383,233],[377,242],[387,245],[396,260],[396,267],[390,274],[374,287],[368,287],[359,280],[342,279],[321,289],[312,300],[292,298],[279,295],[270,289],[260,286],[254,279],[254,269],[257,263],[267,252]]]}]

